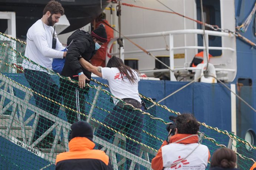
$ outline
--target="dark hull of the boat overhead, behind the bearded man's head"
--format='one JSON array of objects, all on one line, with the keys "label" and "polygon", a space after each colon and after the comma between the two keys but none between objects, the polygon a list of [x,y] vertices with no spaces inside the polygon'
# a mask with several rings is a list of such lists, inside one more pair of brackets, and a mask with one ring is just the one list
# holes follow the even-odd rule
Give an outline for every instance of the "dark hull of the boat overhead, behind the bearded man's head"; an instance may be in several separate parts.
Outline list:
[{"label": "dark hull of the boat overhead, behind the bearded man's head", "polygon": [[[0,11],[16,13],[16,36],[25,38],[27,30],[43,16],[43,8],[49,0],[0,0]],[[108,5],[102,0],[65,0],[59,1],[69,20],[70,26],[63,33],[74,31],[95,19]],[[7,20],[0,20],[0,32],[7,29]]]}]

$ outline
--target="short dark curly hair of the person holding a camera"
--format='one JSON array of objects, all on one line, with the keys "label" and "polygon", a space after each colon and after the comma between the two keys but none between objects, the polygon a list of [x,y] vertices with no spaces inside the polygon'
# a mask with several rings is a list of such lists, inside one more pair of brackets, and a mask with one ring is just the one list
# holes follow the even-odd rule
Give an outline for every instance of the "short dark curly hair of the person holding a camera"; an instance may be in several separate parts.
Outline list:
[{"label": "short dark curly hair of the person holding a camera", "polygon": [[200,126],[196,118],[188,113],[178,115],[175,124],[180,134],[197,134]]}]

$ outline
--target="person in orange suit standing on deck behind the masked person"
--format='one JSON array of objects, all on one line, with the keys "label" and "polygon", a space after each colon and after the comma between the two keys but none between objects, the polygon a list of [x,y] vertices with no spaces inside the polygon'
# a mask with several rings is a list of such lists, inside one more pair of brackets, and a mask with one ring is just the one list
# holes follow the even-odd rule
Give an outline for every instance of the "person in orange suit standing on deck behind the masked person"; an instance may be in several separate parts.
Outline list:
[{"label": "person in orange suit standing on deck behind the masked person", "polygon": [[[103,26],[106,29],[106,33],[107,33],[107,37],[108,40],[106,43],[104,43],[101,48],[99,50],[97,50],[96,54],[93,55],[93,58],[91,59],[91,64],[98,67],[106,67],[106,53],[108,51],[107,46],[110,40],[112,40],[112,38],[114,37],[114,30],[109,27],[108,25],[110,25],[108,23],[108,20],[106,20],[106,14],[104,12],[102,12],[97,18],[96,18],[96,26],[95,28],[99,27],[101,24],[103,24]],[[112,50],[112,46],[110,51]],[[111,58],[110,55],[108,55],[109,58]]]}]

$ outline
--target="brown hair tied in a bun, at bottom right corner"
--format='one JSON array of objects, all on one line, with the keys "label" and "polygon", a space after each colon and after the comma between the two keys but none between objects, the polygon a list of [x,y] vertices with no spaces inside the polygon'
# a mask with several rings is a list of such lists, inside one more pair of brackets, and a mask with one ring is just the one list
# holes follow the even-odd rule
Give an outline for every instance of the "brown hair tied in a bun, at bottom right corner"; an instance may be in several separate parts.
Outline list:
[{"label": "brown hair tied in a bun, at bottom right corner", "polygon": [[228,148],[217,149],[211,158],[211,167],[232,169],[236,166],[236,153]]}]

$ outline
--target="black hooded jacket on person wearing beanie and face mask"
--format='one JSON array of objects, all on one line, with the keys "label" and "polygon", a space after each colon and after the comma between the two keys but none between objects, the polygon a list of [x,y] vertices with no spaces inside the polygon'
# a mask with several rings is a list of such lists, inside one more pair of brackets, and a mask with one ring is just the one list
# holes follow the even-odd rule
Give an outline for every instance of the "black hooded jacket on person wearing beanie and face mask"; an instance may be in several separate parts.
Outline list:
[{"label": "black hooded jacket on person wearing beanie and face mask", "polygon": [[[72,40],[73,43],[70,44]],[[89,61],[96,53],[95,43],[91,34],[83,30],[76,30],[68,37],[67,45],[69,47],[61,75],[78,81],[78,73],[83,72],[88,79],[91,79],[92,73],[83,68],[79,63],[81,57]],[[86,83],[89,83],[89,81],[86,80]]]}]

